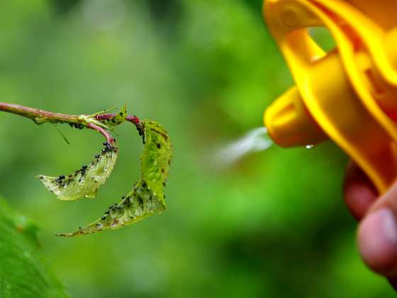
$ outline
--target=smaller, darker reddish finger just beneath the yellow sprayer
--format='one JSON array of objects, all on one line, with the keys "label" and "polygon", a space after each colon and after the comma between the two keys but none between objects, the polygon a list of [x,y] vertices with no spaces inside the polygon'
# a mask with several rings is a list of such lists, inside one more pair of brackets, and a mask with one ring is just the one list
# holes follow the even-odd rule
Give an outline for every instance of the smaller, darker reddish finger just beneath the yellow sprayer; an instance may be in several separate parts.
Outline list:
[{"label": "smaller, darker reddish finger just beneath the yellow sprayer", "polygon": [[377,197],[374,184],[354,162],[347,165],[343,193],[350,213],[357,220],[364,217]]}]

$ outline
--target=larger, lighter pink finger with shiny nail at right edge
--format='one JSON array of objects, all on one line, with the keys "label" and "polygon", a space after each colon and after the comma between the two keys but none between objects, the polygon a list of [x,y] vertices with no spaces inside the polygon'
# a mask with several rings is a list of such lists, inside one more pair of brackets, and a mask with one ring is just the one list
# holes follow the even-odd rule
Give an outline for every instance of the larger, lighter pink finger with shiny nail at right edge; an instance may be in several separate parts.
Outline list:
[{"label": "larger, lighter pink finger with shiny nail at right edge", "polygon": [[369,209],[358,230],[358,244],[365,263],[375,272],[397,277],[397,184]]}]

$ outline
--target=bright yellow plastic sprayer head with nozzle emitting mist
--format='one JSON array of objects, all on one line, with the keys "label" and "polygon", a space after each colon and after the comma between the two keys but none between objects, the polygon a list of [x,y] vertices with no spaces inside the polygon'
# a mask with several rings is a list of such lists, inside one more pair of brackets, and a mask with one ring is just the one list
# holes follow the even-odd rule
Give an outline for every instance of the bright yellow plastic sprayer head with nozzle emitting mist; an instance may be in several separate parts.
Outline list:
[{"label": "bright yellow plastic sprayer head with nozzle emitting mist", "polygon": [[[380,3],[379,3],[380,2]],[[397,178],[395,1],[267,0],[264,17],[296,81],[264,114],[284,147],[332,139],[383,193]],[[324,53],[308,28],[328,28]]]}]

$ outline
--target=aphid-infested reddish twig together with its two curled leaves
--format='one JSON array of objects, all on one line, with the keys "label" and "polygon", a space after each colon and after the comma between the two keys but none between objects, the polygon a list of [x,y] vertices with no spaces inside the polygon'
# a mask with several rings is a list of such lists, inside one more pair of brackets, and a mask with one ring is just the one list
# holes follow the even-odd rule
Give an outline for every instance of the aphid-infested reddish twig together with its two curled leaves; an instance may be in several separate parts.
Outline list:
[{"label": "aphid-infested reddish twig together with its two curled leaves", "polygon": [[167,131],[159,123],[128,115],[126,106],[116,114],[105,110],[91,115],[68,115],[0,102],[0,111],[30,118],[36,124],[52,123],[57,126],[67,123],[78,129],[89,128],[104,136],[104,148],[88,165],[83,165],[81,169],[69,175],[37,176],[45,188],[62,201],[95,197],[99,187],[111,175],[119,150],[116,139],[111,135],[116,133],[115,126],[124,122],[133,123],[142,137],[144,145],[140,155],[142,173],[133,189],[121,198],[121,202],[110,206],[104,215],[93,223],[80,227],[73,233],[58,233],[57,236],[78,236],[106,228],[121,228],[152,214],[162,213],[166,208],[164,187],[172,158],[172,144]]}]

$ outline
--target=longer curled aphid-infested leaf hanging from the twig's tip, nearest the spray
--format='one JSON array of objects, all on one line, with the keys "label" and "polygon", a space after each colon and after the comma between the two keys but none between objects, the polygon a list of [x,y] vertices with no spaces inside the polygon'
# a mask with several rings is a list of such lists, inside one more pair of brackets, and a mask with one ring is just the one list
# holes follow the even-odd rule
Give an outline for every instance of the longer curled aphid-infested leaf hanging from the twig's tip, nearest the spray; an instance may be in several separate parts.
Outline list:
[{"label": "longer curled aphid-infested leaf hanging from the twig's tip, nearest the spray", "polygon": [[70,237],[96,233],[106,228],[121,228],[165,210],[164,187],[172,158],[172,144],[167,131],[156,122],[141,121],[138,129],[145,145],[140,156],[142,177],[131,192],[88,226],[57,236]]}]

